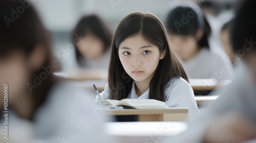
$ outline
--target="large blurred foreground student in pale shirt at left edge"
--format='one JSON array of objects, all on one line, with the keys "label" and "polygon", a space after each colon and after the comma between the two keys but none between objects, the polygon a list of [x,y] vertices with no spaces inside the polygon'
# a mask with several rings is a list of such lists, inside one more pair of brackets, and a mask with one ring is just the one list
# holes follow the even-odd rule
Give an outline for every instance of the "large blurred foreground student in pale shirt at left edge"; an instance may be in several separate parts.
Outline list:
[{"label": "large blurred foreground student in pale shirt at left edge", "polygon": [[[0,1],[0,19],[1,92],[8,91],[5,97],[0,94],[0,142],[108,142],[90,92],[69,87],[52,74],[59,64],[30,2]],[[8,113],[3,112],[4,99]]]}]

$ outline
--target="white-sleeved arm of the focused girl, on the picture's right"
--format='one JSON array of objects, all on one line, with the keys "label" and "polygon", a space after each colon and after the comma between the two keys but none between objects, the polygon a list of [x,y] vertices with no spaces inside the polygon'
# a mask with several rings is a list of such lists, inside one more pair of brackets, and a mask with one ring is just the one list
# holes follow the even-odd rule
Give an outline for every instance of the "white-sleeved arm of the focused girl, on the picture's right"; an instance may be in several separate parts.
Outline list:
[{"label": "white-sleeved arm of the focused girl, on the picture's right", "polygon": [[183,79],[175,80],[174,83],[165,91],[167,99],[166,105],[168,107],[185,107],[188,108],[190,120],[195,120],[200,116],[197,103],[194,96],[194,91]]}]

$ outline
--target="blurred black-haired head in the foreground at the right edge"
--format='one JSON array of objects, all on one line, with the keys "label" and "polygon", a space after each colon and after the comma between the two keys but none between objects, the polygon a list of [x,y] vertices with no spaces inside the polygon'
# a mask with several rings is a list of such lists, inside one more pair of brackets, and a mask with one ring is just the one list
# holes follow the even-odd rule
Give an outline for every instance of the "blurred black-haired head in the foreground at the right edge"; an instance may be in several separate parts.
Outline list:
[{"label": "blurred black-haired head in the foreground at the right edge", "polygon": [[237,12],[231,27],[234,53],[252,69],[256,81],[256,1],[247,0]]}]

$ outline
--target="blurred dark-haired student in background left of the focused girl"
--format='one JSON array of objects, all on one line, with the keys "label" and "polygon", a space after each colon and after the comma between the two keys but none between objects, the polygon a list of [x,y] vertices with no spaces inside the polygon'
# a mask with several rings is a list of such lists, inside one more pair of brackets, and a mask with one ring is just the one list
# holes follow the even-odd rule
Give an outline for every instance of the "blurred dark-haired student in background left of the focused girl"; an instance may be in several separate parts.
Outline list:
[{"label": "blurred dark-haired student in background left of the focused girl", "polygon": [[80,68],[108,70],[112,33],[97,15],[80,19],[72,33],[76,60]]}]

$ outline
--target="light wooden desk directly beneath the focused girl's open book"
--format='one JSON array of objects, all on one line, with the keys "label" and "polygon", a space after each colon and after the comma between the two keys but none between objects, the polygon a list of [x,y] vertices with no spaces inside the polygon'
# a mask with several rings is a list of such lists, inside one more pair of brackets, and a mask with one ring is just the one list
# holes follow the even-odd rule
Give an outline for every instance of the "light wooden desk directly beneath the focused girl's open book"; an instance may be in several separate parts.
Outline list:
[{"label": "light wooden desk directly beneath the focused girl's open book", "polygon": [[108,115],[138,115],[139,122],[186,121],[187,108],[171,109],[103,109]]}]

